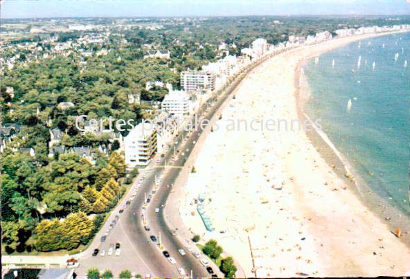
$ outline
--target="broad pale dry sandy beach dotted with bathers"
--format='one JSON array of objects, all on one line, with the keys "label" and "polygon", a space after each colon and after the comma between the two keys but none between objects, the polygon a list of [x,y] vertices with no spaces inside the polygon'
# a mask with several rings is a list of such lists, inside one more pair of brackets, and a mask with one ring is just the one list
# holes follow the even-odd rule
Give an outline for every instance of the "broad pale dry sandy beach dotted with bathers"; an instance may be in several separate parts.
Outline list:
[{"label": "broad pale dry sandy beach dotted with bathers", "polygon": [[[247,277],[410,271],[407,246],[357,198],[353,184],[337,174],[306,132],[291,127],[303,120],[301,63],[364,38],[304,46],[258,66],[197,152],[196,172],[179,200],[181,217],[193,233],[222,244]],[[264,125],[268,119],[276,122],[273,129]],[[206,231],[197,211],[199,195],[213,232]]]}]

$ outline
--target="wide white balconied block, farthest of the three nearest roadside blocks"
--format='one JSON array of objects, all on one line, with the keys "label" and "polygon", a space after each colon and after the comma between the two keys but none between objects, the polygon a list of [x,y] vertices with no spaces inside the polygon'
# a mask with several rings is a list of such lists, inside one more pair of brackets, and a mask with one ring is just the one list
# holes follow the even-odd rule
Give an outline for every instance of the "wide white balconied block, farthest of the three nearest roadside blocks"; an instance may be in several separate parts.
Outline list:
[{"label": "wide white balconied block, farthest of the three nearest roadside blocks", "polygon": [[215,90],[215,79],[215,73],[183,71],[181,73],[181,87],[184,91],[213,91]]}]

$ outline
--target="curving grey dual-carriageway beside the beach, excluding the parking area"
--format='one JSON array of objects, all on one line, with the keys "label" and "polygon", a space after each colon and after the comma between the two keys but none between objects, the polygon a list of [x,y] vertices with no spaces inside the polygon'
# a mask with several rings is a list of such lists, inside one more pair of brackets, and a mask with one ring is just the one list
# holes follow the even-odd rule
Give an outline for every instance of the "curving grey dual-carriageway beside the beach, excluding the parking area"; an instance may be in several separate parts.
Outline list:
[{"label": "curving grey dual-carriageway beside the beach, excluding the parking area", "polygon": [[[266,59],[268,59],[268,57],[265,57],[264,60]],[[193,249],[197,249],[195,243],[190,240],[181,242],[181,239],[177,237],[178,235],[172,235],[171,231],[175,231],[178,234],[178,228],[168,227],[166,216],[163,215],[163,208],[166,206],[168,195],[172,191],[172,185],[179,176],[181,168],[184,167],[186,159],[193,150],[197,139],[203,132],[202,128],[206,127],[206,125],[197,125],[197,122],[200,122],[202,119],[210,120],[215,114],[215,111],[222,106],[224,101],[238,84],[240,84],[244,76],[264,60],[260,60],[252,66],[247,67],[247,69],[244,69],[235,77],[235,80],[233,80],[230,86],[226,86],[218,93],[215,93],[213,97],[209,98],[209,100],[198,109],[197,114],[191,118],[191,123],[195,123],[193,127],[190,127],[191,129],[189,130],[183,129],[175,139],[174,145],[170,146],[168,152],[166,152],[163,157],[159,155],[155,156],[148,168],[143,170],[143,176],[145,178],[139,188],[139,194],[129,208],[125,210],[125,213],[123,213],[125,216],[121,217],[121,226],[135,249],[142,253],[145,264],[152,271],[153,276],[167,278],[181,277],[177,271],[179,267],[184,268],[188,276],[191,276],[191,272],[193,277],[210,276],[205,267],[199,262],[199,259],[195,258],[185,248],[185,246],[189,245]],[[177,159],[173,161],[172,157],[175,156],[177,156]],[[157,159],[159,159],[159,163],[156,164]],[[141,177],[141,175],[139,177]],[[152,190],[155,188],[156,178],[161,179],[161,181],[158,183],[159,186],[156,192],[152,194]],[[136,179],[133,187],[139,183],[139,179],[140,178]],[[152,195],[152,199],[150,203],[147,204],[144,214],[142,214],[142,208],[145,204],[144,196],[148,197],[149,195]],[[159,208],[159,212],[156,212],[156,208]],[[175,212],[172,214],[179,213]],[[144,224],[148,224],[150,231],[145,231],[143,227]],[[176,264],[168,262],[162,255],[159,245],[150,241],[150,235],[154,235],[157,239],[161,236],[161,248],[168,251],[171,257],[175,258]],[[186,255],[180,255],[178,249],[184,249]],[[201,255],[201,258],[206,257]],[[220,273],[215,264],[211,261],[208,262],[210,262],[217,276],[222,277],[222,273]]]}]

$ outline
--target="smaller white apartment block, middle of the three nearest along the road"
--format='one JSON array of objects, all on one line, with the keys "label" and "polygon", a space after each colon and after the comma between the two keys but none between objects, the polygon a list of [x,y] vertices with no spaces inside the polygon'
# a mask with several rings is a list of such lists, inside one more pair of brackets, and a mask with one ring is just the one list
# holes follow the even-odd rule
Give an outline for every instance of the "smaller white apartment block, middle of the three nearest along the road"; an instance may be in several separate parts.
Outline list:
[{"label": "smaller white apartment block, middle of the three nearest along the road", "polygon": [[166,94],[162,101],[162,109],[168,114],[184,116],[189,114],[189,96],[185,91],[176,90]]}]

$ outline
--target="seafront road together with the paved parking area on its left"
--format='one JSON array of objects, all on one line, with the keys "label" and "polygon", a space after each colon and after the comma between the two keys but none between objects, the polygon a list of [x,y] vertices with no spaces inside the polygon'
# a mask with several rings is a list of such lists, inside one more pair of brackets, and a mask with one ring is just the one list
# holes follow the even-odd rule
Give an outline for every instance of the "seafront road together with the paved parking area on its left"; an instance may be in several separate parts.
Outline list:
[{"label": "seafront road together with the paved parking area on its left", "polygon": [[[264,60],[267,58],[268,57],[265,57]],[[249,73],[251,69],[258,66],[260,62],[262,62],[262,60],[243,69],[242,73],[238,73],[231,82],[231,85],[214,93],[213,96],[198,109],[197,115],[191,118],[191,123],[196,123],[198,119],[210,120],[215,114],[215,111],[221,107],[226,98],[228,98],[232,91],[240,84],[244,76]],[[145,170],[141,170],[141,174],[135,179],[132,189],[127,192],[123,201],[113,210],[108,222],[106,222],[103,229],[98,233],[93,244],[91,244],[87,251],[84,251],[85,255],[84,253],[82,254],[80,268],[77,271],[79,276],[84,275],[90,267],[97,267],[101,271],[111,269],[114,275],[118,275],[123,269],[130,269],[135,273],[141,273],[143,276],[149,273],[151,277],[155,278],[178,278],[181,277],[181,275],[177,269],[182,267],[186,271],[187,276],[191,276],[192,272],[193,277],[209,277],[208,272],[199,262],[199,259],[195,258],[185,249],[185,246],[188,244],[195,251],[198,251],[195,244],[190,240],[181,239],[182,237],[178,235],[178,233],[177,235],[172,235],[171,230],[177,231],[177,228],[169,228],[166,223],[166,216],[163,215],[163,206],[166,206],[168,195],[170,191],[172,191],[172,185],[175,183],[179,172],[181,172],[181,168],[186,163],[186,159],[190,155],[191,150],[193,150],[201,133],[202,127],[200,127],[200,125],[191,127],[190,131],[183,130],[179,132],[179,135],[174,140],[174,145],[170,146],[168,152],[166,152],[163,157],[157,154],[152,160],[152,163],[150,163]],[[177,159],[173,161],[172,157],[175,157],[175,155],[177,155]],[[159,163],[156,162],[158,159]],[[161,182],[155,194],[152,194],[152,190],[155,188],[156,178],[161,178]],[[142,179],[143,181],[140,182]],[[130,205],[127,206],[123,213],[119,213],[119,210],[129,201],[132,192],[138,185],[139,190],[135,199],[130,202]],[[152,195],[152,199],[150,203],[147,204],[147,208],[145,208],[143,220],[142,209],[145,205],[144,194],[147,197]],[[158,213],[155,212],[155,208],[159,208]],[[179,213],[175,212],[172,214]],[[119,216],[118,223],[107,236],[106,242],[100,242],[100,236],[107,230],[116,215]],[[150,226],[150,231],[145,231],[144,221]],[[163,256],[159,246],[150,241],[150,235],[154,235],[157,238],[161,235],[161,248],[168,251],[170,256],[175,258],[176,264],[168,262]],[[121,243],[121,255],[106,255],[105,257],[98,255],[97,257],[91,257],[93,249],[98,248],[107,251],[109,244],[115,244],[117,242]],[[186,255],[180,255],[178,249],[186,250]],[[202,254],[201,258],[206,258],[206,256]],[[208,262],[218,277],[222,277],[223,275],[217,270],[215,264],[210,260],[208,260]]]}]

